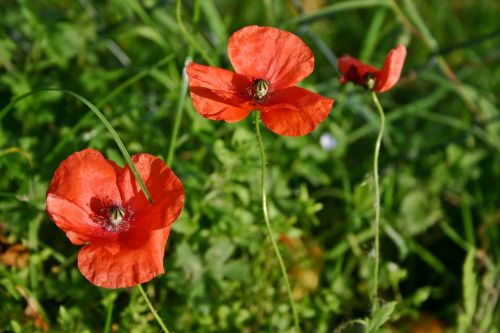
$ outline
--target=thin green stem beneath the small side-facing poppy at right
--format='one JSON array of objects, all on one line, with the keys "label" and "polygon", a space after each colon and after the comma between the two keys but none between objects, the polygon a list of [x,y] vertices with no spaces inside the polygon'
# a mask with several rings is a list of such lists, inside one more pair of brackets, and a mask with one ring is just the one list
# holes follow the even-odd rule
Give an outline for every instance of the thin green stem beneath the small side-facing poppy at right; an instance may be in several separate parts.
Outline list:
[{"label": "thin green stem beneath the small side-facing poppy at right", "polygon": [[385,116],[384,109],[382,109],[382,105],[380,105],[375,92],[372,92],[372,98],[380,116],[380,129],[378,131],[377,141],[375,142],[375,153],[373,154],[373,184],[375,187],[375,223],[373,225],[375,234],[375,267],[373,271],[371,299],[372,311],[375,311],[378,309],[378,271],[380,265],[380,188],[378,180],[378,156],[380,154],[380,143],[384,136]]}]

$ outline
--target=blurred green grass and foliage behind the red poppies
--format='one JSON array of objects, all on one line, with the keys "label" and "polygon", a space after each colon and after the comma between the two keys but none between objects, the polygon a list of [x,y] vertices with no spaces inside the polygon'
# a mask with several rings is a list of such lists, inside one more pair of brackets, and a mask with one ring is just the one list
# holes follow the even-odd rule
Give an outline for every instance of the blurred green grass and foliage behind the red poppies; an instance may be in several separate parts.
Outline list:
[{"label": "blurred green grass and foliage behind the red poppies", "polygon": [[74,97],[37,92],[4,108],[43,88],[88,98],[131,154],[166,160],[175,148],[170,166],[186,203],[168,241],[166,274],[145,286],[171,332],[291,331],[261,216],[252,118],[204,119],[183,89],[188,57],[231,69],[228,37],[258,24],[298,34],[316,62],[301,85],[336,101],[307,136],[264,130],[271,222],[303,331],[361,332],[343,324],[370,316],[378,117],[367,92],[339,86],[336,57],[381,66],[403,43],[403,77],[380,96],[387,115],[380,294],[398,302],[382,331],[498,332],[500,2],[176,5],[0,0],[0,331],[159,331],[136,289],[85,280],[78,248],[45,213],[47,185],[69,154],[92,147],[123,159]]}]

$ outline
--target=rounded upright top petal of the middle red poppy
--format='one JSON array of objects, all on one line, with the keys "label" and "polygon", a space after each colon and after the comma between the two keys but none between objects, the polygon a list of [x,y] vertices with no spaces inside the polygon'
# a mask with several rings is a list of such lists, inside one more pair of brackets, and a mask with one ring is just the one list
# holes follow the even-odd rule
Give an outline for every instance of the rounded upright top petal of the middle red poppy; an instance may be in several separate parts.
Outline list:
[{"label": "rounded upright top petal of the middle red poppy", "polygon": [[311,49],[298,36],[273,27],[236,31],[228,54],[236,73],[269,81],[273,90],[295,85],[314,69]]}]

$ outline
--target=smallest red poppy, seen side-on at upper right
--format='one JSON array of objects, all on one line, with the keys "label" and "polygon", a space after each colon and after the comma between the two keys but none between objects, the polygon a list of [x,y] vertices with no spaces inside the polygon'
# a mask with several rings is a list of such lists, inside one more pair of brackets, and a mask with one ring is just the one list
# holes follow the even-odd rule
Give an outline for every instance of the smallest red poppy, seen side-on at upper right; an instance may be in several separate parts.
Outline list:
[{"label": "smallest red poppy, seen side-on at upper right", "polygon": [[338,60],[339,71],[342,74],[340,83],[352,82],[378,93],[386,92],[399,81],[405,59],[406,48],[403,45],[399,45],[387,54],[380,70],[344,55]]}]

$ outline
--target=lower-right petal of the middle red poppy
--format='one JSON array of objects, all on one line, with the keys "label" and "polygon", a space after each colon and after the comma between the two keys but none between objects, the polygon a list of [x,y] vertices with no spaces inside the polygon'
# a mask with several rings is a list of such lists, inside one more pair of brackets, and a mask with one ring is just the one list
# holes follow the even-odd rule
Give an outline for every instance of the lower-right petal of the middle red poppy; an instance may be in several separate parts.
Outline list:
[{"label": "lower-right petal of the middle red poppy", "polygon": [[275,92],[271,101],[259,109],[267,128],[279,135],[299,136],[316,128],[328,116],[333,99],[300,87]]}]

